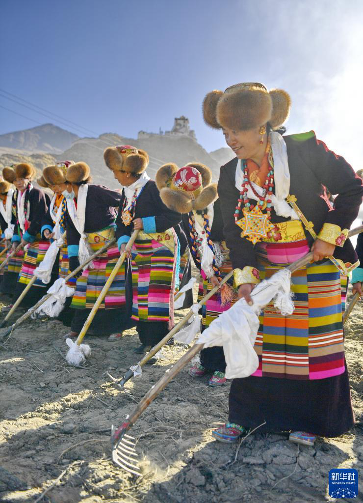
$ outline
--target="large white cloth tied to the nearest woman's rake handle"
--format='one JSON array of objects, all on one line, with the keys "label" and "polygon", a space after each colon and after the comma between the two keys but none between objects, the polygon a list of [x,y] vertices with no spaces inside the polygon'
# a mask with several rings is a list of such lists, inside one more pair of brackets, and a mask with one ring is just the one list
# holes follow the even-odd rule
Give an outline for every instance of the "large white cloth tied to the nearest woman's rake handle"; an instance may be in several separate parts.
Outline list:
[{"label": "large white cloth tied to the nearest woman's rake handle", "polygon": [[252,306],[245,299],[239,299],[214,319],[199,337],[197,344],[204,344],[204,348],[223,346],[227,379],[248,377],[257,370],[259,360],[254,345],[262,309],[273,300],[282,315],[293,313],[290,278],[290,271],[283,269],[262,281],[252,292]]}]

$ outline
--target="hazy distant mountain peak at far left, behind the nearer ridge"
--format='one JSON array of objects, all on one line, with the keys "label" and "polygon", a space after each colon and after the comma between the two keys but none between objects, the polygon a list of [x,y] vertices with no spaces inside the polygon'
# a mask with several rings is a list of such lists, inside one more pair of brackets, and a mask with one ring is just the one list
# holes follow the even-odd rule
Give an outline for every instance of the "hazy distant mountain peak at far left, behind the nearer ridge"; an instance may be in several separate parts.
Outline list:
[{"label": "hazy distant mountain peak at far left, behind the nearer ridge", "polygon": [[14,131],[0,135],[0,147],[27,152],[61,153],[78,140],[79,136],[54,124]]}]

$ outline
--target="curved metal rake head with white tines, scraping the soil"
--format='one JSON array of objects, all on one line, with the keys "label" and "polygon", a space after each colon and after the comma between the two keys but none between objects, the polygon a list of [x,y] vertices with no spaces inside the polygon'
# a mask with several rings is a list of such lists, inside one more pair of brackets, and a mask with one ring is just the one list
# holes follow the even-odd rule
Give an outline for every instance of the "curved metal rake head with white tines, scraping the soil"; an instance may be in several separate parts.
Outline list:
[{"label": "curved metal rake head with white tines, scraping the soil", "polygon": [[124,470],[141,476],[138,466],[138,454],[135,451],[135,438],[126,434],[129,423],[122,426],[111,428],[112,461],[124,468]]}]

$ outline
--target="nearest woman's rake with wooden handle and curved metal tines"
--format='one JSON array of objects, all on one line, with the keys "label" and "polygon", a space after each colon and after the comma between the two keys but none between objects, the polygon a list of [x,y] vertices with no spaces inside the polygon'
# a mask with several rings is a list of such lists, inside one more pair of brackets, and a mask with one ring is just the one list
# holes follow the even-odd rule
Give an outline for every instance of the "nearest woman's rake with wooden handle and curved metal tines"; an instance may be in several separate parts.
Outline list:
[{"label": "nearest woman's rake with wooden handle and curved metal tines", "polygon": [[[363,225],[351,230],[348,233],[348,237],[354,236],[363,232]],[[291,273],[297,271],[303,266],[306,266],[312,262],[313,253],[309,251],[301,259],[297,260],[286,269]],[[254,296],[252,292],[251,296]],[[350,306],[350,304],[349,304]],[[146,395],[140,400],[135,409],[131,414],[126,416],[125,422],[115,428],[112,426],[111,429],[111,445],[112,445],[112,460],[118,466],[124,468],[124,470],[134,473],[135,475],[141,475],[140,468],[138,466],[137,454],[135,452],[135,439],[127,434],[127,432],[133,427],[141,414],[147,409],[150,403],[158,396],[158,394],[169,384],[169,382],[174,379],[179,372],[185,367],[185,365],[190,362],[190,360],[196,356],[201,349],[203,349],[203,344],[194,344],[170,369],[167,369],[164,376],[159,379],[159,381],[152,386],[152,388],[146,393]]]}]

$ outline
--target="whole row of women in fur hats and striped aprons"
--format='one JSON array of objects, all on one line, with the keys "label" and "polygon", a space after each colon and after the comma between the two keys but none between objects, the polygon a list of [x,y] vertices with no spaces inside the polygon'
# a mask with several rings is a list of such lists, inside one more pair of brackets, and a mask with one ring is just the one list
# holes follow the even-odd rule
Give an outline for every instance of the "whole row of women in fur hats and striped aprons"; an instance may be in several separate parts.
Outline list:
[{"label": "whole row of women in fur hats and striped aprons", "polygon": [[[181,169],[166,164],[155,183],[146,173],[148,154],[129,145],[104,152],[106,165],[124,187],[122,194],[90,185],[90,170],[83,162],[50,166],[43,173],[54,193],[66,200],[57,204],[65,207],[64,257],[68,254],[70,270],[91,251],[116,240],[77,279],[68,336],[79,333],[133,230],[139,234],[130,262],[118,272],[91,331],[107,332],[117,340],[131,314],[142,343],[140,353],[173,325],[181,236],[187,237],[202,276],[199,299],[218,287],[218,294],[202,307],[202,329],[237,298],[252,305],[261,280],[313,251],[314,262],[292,274],[294,312],[284,316],[273,304],[261,312],[254,347],[259,366],[250,377],[233,379],[228,422],[212,432],[226,443],[260,428],[289,431],[291,441],[312,445],[316,435],[338,436],[354,424],[344,359],[341,277],[359,265],[347,234],[362,201],[362,180],[313,131],[283,135],[289,111],[285,91],[269,92],[260,83],[241,83],[205,97],[205,122],[222,129],[235,153],[221,167],[217,187],[211,184],[210,170],[199,163]],[[30,264],[34,267],[49,245],[55,210],[53,205],[53,223],[39,223],[39,212],[30,205],[43,205],[44,212],[47,201],[41,195],[30,197],[36,190],[25,177],[30,173],[19,170],[18,165],[16,217],[11,222],[17,228],[13,240],[19,236],[28,245],[18,281],[24,283],[31,275]],[[56,173],[61,177],[52,179]],[[327,192],[336,195],[333,204]],[[231,270],[233,285],[221,286]],[[362,278],[354,274],[354,288],[361,291]],[[224,370],[223,351],[211,348],[201,352],[190,374],[201,377],[212,371],[210,384],[218,385],[225,381]]]}]

